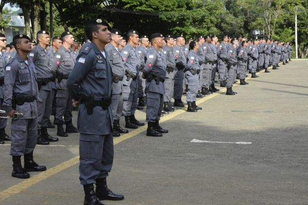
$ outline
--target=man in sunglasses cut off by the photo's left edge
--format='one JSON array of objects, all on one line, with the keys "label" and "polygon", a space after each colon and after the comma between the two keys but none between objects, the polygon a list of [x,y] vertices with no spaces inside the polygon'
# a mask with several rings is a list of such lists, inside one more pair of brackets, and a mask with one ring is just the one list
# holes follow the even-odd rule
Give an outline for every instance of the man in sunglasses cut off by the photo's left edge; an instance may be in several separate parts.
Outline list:
[{"label": "man in sunglasses cut off by the photo's left edge", "polygon": [[[0,33],[0,103],[1,106],[3,104],[3,84],[4,84],[4,76],[5,76],[5,58],[4,58],[4,53],[2,52],[3,48],[5,48],[5,35],[3,33]],[[11,138],[5,133],[5,127],[7,125],[7,119],[0,118],[0,144],[4,144],[4,141],[11,140]]]}]

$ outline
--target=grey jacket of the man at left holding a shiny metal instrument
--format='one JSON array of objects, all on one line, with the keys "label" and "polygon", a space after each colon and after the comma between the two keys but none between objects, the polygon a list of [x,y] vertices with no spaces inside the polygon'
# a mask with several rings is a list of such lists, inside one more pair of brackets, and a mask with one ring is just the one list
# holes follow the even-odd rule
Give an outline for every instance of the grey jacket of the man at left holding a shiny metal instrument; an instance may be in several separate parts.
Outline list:
[{"label": "grey jacket of the man at left holding a shiny metal instrument", "polygon": [[[35,67],[31,61],[27,63],[16,53],[5,68],[4,78],[4,102],[3,109],[10,112],[12,108],[12,98],[14,95],[25,95],[35,97],[35,100],[41,101],[38,97],[38,87],[35,77]],[[19,119],[37,118],[36,101],[25,102],[23,105],[16,104],[16,111],[23,113]]]}]

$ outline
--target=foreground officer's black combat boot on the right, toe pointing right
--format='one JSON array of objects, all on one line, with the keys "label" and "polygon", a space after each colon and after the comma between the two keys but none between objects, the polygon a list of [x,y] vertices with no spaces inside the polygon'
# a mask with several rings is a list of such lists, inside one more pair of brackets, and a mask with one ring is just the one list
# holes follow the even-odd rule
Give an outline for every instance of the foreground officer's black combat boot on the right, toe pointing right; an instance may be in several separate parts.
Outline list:
[{"label": "foreground officer's black combat boot on the right, toe pointing right", "polygon": [[115,194],[107,187],[106,178],[101,178],[96,180],[96,196],[100,200],[113,200],[119,201],[123,200],[124,196],[122,194]]}]

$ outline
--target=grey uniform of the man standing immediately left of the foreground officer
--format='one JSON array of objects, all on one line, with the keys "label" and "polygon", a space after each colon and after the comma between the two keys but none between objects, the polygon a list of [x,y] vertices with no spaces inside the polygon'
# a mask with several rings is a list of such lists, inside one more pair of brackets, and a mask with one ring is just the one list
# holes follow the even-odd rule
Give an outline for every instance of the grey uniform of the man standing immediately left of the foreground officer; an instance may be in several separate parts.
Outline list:
[{"label": "grey uniform of the man standing immediately left of the foreground officer", "polygon": [[[54,53],[52,61],[52,72],[57,76],[58,81],[56,82],[56,111],[55,111],[55,122],[63,122],[63,116],[65,122],[72,121],[72,110],[73,106],[71,103],[71,97],[68,94],[66,81],[68,75],[74,67],[75,61],[73,58],[72,50],[67,50],[63,45],[57,49]],[[59,77],[62,76],[61,82]]]}]

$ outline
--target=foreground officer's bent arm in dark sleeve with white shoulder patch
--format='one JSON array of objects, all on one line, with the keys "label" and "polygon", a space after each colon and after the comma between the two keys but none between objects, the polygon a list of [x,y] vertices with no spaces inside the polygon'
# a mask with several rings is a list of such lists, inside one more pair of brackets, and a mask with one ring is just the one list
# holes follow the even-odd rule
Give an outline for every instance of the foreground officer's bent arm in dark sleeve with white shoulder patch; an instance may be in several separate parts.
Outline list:
[{"label": "foreground officer's bent arm in dark sleeve with white shoulder patch", "polygon": [[78,56],[78,59],[76,59],[76,63],[74,65],[73,70],[68,76],[66,86],[68,89],[68,92],[73,100],[79,101],[79,87],[81,81],[84,79],[86,74],[93,69],[93,62],[95,59],[90,57],[87,54],[80,54]]}]

